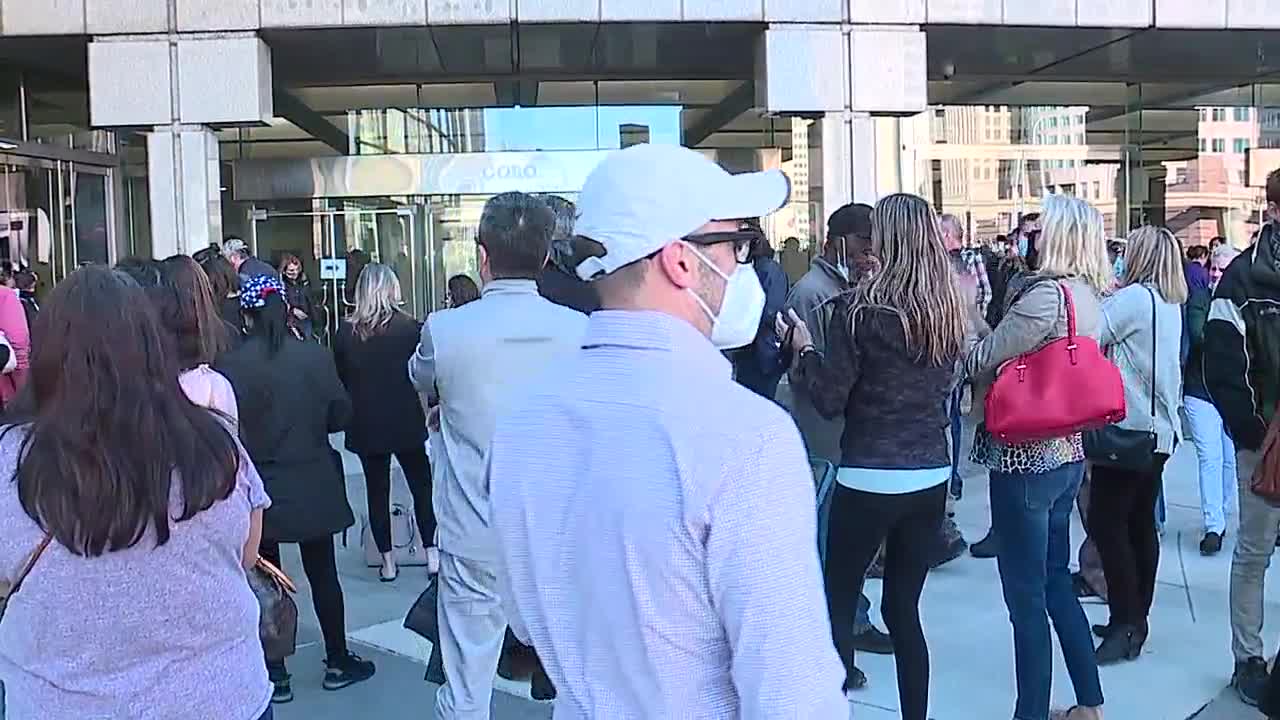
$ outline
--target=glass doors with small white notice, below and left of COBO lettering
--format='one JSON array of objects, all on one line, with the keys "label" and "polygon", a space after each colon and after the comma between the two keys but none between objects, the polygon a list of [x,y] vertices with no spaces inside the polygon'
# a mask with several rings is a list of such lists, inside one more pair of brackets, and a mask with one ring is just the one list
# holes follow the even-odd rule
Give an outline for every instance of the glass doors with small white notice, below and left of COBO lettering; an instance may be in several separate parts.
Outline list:
[{"label": "glass doors with small white notice, below and left of COBO lettering", "polygon": [[273,266],[294,255],[311,278],[315,301],[324,307],[316,327],[333,337],[355,302],[356,281],[365,263],[389,265],[401,282],[406,310],[424,316],[430,307],[430,279],[424,277],[426,210],[417,205],[379,209],[335,209],[324,200],[305,201],[312,209],[253,209],[250,245]]}]

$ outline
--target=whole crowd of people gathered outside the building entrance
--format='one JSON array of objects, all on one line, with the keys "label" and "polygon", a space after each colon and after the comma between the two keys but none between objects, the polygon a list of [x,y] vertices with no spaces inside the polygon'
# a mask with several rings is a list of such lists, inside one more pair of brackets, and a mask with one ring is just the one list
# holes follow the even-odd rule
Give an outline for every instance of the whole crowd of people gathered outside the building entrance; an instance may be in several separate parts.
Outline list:
[{"label": "whole crowd of people gathered outside the building entrance", "polygon": [[[81,268],[44,307],[33,275],[0,268],[8,716],[269,720],[292,679],[264,652],[246,571],[279,566],[284,543],[323,687],[372,678],[337,566],[356,520],[343,432],[379,579],[399,575],[393,461],[429,546],[438,717],[488,717],[495,673],[527,653],[557,716],[844,719],[868,682],[856,653],[877,652],[895,656],[901,716],[925,720],[920,598],[968,547],[951,515],[969,448],[991,506],[969,550],[997,561],[1012,717],[1098,720],[1098,667],[1138,660],[1151,632],[1185,425],[1201,552],[1238,533],[1233,683],[1280,717],[1261,635],[1280,506],[1253,492],[1280,397],[1280,172],[1244,252],[1152,225],[1108,238],[1068,196],[982,242],[897,193],[836,209],[804,269],[762,231],[787,197],[777,170],[637,145],[576,206],[490,199],[479,278],[449,278],[424,320],[393,268],[348,258],[332,333],[297,256],[273,266],[234,238]],[[1123,419],[996,428],[993,382],[1062,338],[1073,360],[1075,338],[1105,348]],[[1106,624],[1091,628],[1089,594]],[[1070,708],[1050,707],[1051,628]]]}]

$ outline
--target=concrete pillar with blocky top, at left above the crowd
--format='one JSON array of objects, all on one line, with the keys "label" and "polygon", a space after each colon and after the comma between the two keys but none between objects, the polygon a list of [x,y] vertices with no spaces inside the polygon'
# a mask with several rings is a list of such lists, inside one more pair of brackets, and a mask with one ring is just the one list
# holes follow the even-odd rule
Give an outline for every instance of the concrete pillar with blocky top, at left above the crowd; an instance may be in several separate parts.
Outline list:
[{"label": "concrete pillar with blocky top, at left above the crowd", "polygon": [[95,37],[88,47],[93,127],[151,127],[151,238],[156,258],[220,242],[218,137],[210,126],[271,119],[271,55],[251,32]]}]

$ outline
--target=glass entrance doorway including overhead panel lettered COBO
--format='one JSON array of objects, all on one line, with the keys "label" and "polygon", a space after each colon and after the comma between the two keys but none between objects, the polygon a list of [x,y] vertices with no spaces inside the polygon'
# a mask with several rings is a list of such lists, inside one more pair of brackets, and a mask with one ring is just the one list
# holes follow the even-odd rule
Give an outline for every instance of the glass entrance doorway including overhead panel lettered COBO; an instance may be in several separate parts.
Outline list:
[{"label": "glass entrance doorway including overhead panel lettered COBO", "polygon": [[[243,231],[262,260],[296,255],[323,293],[332,332],[349,310],[352,254],[390,265],[406,311],[444,306],[448,278],[480,282],[476,238],[484,205],[521,191],[573,200],[604,151],[346,155],[238,160],[224,227]],[[246,224],[247,223],[247,224]],[[360,258],[357,254],[356,258]]]}]

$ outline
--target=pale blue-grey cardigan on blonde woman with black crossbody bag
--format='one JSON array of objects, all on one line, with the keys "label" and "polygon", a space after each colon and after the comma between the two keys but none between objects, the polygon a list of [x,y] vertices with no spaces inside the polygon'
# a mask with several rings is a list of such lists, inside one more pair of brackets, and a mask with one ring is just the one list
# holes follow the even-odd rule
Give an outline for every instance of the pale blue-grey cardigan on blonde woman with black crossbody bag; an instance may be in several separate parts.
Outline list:
[{"label": "pale blue-grey cardigan on blonde woman with black crossbody bag", "polygon": [[[1156,300],[1156,324],[1151,302]],[[1102,301],[1100,342],[1124,378],[1125,418],[1119,427],[1156,432],[1156,450],[1172,455],[1183,438],[1178,409],[1183,396],[1181,306],[1166,302],[1144,284],[1120,288]],[[1155,356],[1152,355],[1155,351]],[[1152,368],[1156,380],[1156,418],[1151,416]]]}]

